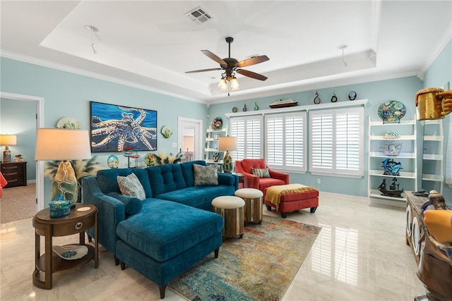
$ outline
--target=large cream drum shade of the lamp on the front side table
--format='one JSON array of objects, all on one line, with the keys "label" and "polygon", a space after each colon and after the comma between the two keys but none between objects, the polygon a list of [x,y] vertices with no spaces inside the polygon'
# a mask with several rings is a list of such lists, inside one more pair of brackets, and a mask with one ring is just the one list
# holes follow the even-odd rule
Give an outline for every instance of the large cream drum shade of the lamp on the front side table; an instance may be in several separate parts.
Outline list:
[{"label": "large cream drum shade of the lamp on the front side table", "polygon": [[35,161],[90,159],[88,130],[38,128]]}]

